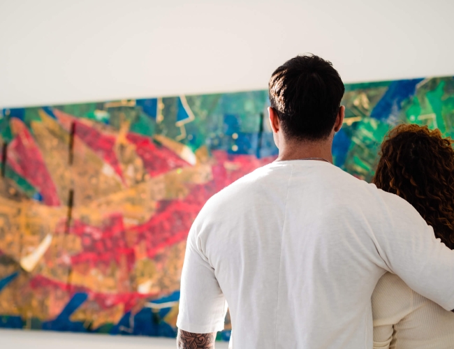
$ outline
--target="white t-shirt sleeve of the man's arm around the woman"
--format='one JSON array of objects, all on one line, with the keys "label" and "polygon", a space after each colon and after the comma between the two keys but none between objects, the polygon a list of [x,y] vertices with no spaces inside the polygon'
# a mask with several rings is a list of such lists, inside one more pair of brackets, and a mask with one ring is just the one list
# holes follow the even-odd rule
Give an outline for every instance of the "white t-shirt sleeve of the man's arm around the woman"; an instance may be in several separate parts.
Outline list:
[{"label": "white t-shirt sleeve of the man's arm around the woman", "polygon": [[376,230],[376,247],[409,287],[446,310],[454,309],[454,251],[407,201],[384,193],[387,221]]}]

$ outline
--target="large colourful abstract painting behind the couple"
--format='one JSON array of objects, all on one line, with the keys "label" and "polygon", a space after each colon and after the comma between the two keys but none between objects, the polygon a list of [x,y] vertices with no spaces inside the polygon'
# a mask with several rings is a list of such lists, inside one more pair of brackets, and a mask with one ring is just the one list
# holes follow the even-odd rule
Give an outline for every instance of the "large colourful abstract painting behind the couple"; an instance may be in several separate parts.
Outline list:
[{"label": "large colourful abstract painting behind the couple", "polygon": [[[193,219],[277,156],[268,104],[250,91],[2,110],[0,327],[175,336]],[[349,84],[343,104],[335,165],[366,181],[391,126],[454,133],[453,77]]]}]

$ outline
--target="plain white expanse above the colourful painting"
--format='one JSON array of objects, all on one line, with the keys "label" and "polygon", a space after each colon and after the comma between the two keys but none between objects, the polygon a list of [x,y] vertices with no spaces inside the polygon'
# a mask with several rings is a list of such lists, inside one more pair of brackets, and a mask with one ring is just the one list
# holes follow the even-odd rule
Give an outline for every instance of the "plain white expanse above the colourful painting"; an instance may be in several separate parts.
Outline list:
[{"label": "plain white expanse above the colourful painting", "polygon": [[313,52],[345,82],[454,75],[453,0],[0,0],[0,107],[265,89]]}]

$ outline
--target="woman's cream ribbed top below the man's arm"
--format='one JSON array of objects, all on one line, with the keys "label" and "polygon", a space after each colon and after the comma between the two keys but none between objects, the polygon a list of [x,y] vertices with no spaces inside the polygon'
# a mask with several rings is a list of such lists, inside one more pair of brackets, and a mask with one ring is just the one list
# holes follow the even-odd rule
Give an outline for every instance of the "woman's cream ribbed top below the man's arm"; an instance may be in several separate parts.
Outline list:
[{"label": "woman's cream ribbed top below the man's arm", "polygon": [[[423,282],[423,281],[421,281]],[[454,313],[386,273],[372,295],[374,349],[453,349]]]}]

